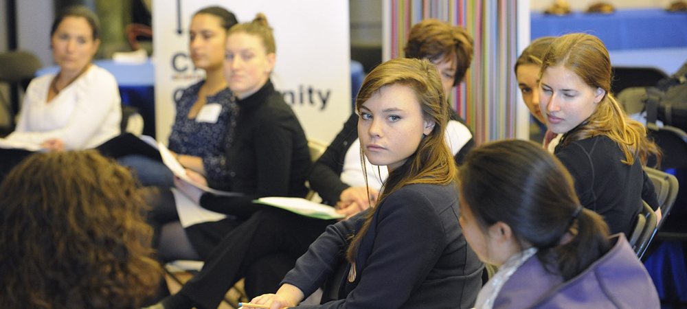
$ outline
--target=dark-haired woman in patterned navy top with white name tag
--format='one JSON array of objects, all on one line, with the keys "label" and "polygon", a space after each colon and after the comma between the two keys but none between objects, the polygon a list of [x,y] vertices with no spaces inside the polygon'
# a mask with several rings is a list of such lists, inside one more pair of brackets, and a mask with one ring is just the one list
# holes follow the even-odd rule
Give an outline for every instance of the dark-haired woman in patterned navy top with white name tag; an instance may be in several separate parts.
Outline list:
[{"label": "dark-haired woman in patterned navy top with white name tag", "polygon": [[[169,149],[181,165],[207,179],[227,176],[223,141],[236,100],[227,87],[222,66],[226,34],[236,23],[232,12],[210,7],[194,14],[189,30],[190,56],[196,68],[205,70],[205,80],[185,89],[177,100]],[[135,168],[143,185],[174,185],[172,171],[160,161],[130,155],[120,163]]]}]

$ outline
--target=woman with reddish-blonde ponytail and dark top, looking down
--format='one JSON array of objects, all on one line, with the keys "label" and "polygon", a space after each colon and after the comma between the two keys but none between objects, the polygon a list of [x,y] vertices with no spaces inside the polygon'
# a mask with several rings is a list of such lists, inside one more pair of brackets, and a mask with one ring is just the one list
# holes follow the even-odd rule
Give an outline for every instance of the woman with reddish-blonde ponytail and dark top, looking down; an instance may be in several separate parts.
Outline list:
[{"label": "woman with reddish-blonde ponytail and dark top, looking down", "polygon": [[603,216],[611,233],[629,235],[646,201],[661,217],[653,184],[642,169],[658,148],[611,93],[611,61],[589,34],[556,38],[542,58],[539,107],[553,133],[554,154],[570,171],[583,207]]}]

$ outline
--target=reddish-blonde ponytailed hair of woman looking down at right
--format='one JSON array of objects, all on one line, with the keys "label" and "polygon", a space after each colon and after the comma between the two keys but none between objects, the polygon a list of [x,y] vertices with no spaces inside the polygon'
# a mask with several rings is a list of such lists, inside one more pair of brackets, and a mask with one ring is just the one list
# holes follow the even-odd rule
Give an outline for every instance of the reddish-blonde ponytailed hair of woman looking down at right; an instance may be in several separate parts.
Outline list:
[{"label": "reddish-blonde ponytailed hair of woman looking down at right", "polygon": [[656,155],[660,161],[660,150],[646,138],[646,128],[627,117],[611,93],[611,60],[606,47],[596,36],[575,33],[556,38],[543,56],[539,76],[548,67],[558,65],[575,73],[589,87],[606,91],[586,122],[565,135],[564,146],[572,141],[606,135],[624,153],[622,163],[632,165],[635,158],[639,158],[644,165],[651,155]]}]

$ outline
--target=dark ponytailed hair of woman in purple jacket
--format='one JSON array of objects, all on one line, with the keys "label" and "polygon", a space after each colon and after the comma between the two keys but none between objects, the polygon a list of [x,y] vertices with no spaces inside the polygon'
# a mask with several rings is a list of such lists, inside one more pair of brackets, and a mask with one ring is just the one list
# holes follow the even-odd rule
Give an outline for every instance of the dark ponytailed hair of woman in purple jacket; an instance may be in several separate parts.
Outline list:
[{"label": "dark ponytailed hair of woman in purple jacket", "polygon": [[[611,248],[606,222],[582,207],[572,176],[540,144],[513,139],[473,148],[458,180],[461,207],[471,209],[484,233],[506,223],[521,247],[539,249],[546,269],[565,280]],[[572,236],[567,242],[566,235]]]}]

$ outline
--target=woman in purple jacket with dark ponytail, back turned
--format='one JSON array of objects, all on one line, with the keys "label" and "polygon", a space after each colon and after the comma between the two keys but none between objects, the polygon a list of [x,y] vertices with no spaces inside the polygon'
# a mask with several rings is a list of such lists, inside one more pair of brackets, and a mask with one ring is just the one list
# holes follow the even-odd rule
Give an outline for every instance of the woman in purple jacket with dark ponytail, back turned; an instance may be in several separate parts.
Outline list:
[{"label": "woman in purple jacket with dark ponytail, back turned", "polygon": [[660,308],[624,235],[582,207],[561,161],[531,141],[484,144],[459,171],[460,225],[500,266],[475,308]]}]

